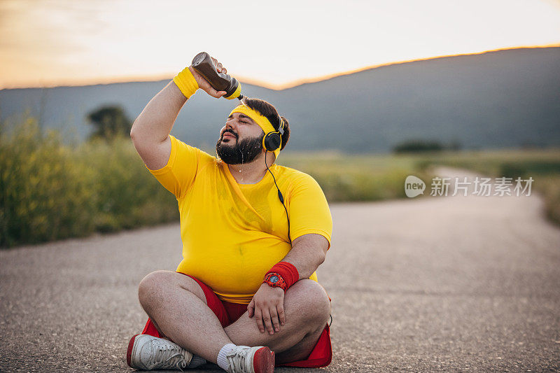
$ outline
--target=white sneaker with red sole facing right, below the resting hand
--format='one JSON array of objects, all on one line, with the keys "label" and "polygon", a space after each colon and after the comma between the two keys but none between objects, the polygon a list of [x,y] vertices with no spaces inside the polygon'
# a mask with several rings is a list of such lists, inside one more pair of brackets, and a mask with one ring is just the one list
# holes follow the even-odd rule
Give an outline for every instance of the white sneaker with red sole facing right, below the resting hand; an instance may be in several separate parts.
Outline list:
[{"label": "white sneaker with red sole facing right, below the resting hand", "polygon": [[237,346],[225,356],[230,366],[229,373],[272,373],[274,372],[274,352],[268,347]]}]

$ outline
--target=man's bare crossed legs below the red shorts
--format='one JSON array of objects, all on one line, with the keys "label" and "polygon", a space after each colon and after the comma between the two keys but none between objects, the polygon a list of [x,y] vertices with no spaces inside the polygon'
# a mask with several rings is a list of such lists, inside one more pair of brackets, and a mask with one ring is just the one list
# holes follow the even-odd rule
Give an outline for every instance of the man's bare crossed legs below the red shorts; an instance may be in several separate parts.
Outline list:
[{"label": "man's bare crossed legs below the red shorts", "polygon": [[[148,274],[140,283],[139,300],[160,335],[165,335],[196,356],[218,363],[230,372],[255,372],[252,368],[236,370],[236,367],[224,366],[224,361],[228,364],[224,360],[224,349],[231,346],[266,346],[276,353],[277,363],[304,360],[314,349],[330,314],[328,295],[316,281],[309,279],[297,281],[286,292],[286,323],[280,326],[279,332],[272,335],[267,331],[260,332],[255,318],[249,318],[248,312],[223,328],[207,306],[204,290],[197,281],[176,272],[158,271]],[[243,353],[254,354],[255,351],[263,353],[262,349],[257,348],[251,351],[246,349]],[[221,355],[221,362],[218,361],[218,355]],[[252,358],[253,356],[244,356],[242,360]],[[274,359],[272,367],[270,361],[261,365],[267,366],[261,369],[255,360],[257,371],[271,371]]]}]

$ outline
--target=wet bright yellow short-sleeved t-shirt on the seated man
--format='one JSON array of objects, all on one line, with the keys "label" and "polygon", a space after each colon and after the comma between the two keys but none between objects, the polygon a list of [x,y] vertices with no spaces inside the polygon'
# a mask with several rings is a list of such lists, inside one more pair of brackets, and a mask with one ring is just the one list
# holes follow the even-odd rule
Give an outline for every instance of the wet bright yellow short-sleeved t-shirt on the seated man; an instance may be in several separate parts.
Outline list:
[{"label": "wet bright yellow short-sleeved t-shirt on the seated man", "polygon": [[[238,184],[228,165],[171,138],[169,161],[150,170],[179,202],[183,260],[177,272],[206,283],[221,300],[248,304],[266,272],[291,249],[288,220],[269,172],[256,184]],[[311,176],[269,167],[290,216],[292,241],[325,237],[332,218],[323,190]],[[310,279],[316,279],[312,274]]]}]

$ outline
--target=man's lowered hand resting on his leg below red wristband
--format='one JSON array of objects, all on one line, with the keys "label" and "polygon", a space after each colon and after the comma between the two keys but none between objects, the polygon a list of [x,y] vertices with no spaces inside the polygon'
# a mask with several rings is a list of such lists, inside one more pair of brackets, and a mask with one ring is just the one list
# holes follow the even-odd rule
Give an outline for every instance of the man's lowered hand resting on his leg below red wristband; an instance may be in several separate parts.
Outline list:
[{"label": "man's lowered hand resting on his leg below red wristband", "polygon": [[286,323],[284,318],[284,290],[272,288],[263,283],[247,306],[249,317],[255,316],[258,330],[273,335],[280,331],[280,325]]}]

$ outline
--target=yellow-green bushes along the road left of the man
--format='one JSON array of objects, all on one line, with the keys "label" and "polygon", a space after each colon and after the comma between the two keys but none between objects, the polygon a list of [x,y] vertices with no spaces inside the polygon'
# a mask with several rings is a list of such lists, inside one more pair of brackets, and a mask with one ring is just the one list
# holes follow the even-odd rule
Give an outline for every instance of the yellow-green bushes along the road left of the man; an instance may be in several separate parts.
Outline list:
[{"label": "yellow-green bushes along the road left of the man", "polygon": [[34,118],[0,125],[0,246],[177,220],[176,200],[130,139],[65,146]]}]

